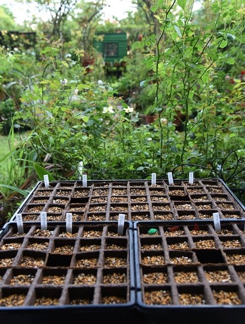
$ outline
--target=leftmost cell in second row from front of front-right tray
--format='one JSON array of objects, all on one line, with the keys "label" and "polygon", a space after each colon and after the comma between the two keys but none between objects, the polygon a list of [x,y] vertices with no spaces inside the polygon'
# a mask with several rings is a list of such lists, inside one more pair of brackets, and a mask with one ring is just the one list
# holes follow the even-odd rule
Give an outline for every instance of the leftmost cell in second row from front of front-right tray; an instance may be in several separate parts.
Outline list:
[{"label": "leftmost cell in second row from front of front-right tray", "polygon": [[167,268],[142,267],[143,283],[162,285],[168,282]]}]

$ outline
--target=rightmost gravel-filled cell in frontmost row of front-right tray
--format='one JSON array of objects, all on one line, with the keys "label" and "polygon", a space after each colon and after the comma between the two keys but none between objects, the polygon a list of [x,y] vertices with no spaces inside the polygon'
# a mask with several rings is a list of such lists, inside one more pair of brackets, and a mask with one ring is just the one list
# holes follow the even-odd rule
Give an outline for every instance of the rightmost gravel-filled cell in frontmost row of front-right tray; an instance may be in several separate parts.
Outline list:
[{"label": "rightmost gravel-filled cell in frontmost row of front-right tray", "polygon": [[211,287],[218,305],[241,305],[242,300],[236,286]]}]

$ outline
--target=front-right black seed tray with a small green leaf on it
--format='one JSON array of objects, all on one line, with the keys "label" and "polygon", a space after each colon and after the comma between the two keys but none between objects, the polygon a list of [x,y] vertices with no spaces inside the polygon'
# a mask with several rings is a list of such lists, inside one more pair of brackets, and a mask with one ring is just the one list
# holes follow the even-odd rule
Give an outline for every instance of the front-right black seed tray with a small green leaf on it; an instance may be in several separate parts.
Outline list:
[{"label": "front-right black seed tray with a small green leaf on it", "polygon": [[[148,234],[150,229],[157,232]],[[215,231],[212,221],[135,222],[137,305],[142,322],[243,321],[244,229],[244,221],[221,221],[221,232]]]}]

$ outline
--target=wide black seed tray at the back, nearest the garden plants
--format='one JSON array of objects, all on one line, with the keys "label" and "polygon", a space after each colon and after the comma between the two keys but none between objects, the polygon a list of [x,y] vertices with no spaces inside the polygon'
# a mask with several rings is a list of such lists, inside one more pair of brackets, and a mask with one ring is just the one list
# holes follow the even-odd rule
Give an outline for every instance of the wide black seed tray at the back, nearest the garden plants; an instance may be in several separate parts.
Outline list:
[{"label": "wide black seed tray at the back, nearest the garden plants", "polygon": [[[66,213],[74,221],[116,221],[119,213],[131,221],[209,220],[219,212],[221,219],[245,217],[242,203],[220,179],[157,181],[145,180],[53,181],[49,189],[37,183],[18,211],[23,220],[40,221],[40,212],[48,221],[65,221]],[[15,215],[10,221],[15,221]]]}]

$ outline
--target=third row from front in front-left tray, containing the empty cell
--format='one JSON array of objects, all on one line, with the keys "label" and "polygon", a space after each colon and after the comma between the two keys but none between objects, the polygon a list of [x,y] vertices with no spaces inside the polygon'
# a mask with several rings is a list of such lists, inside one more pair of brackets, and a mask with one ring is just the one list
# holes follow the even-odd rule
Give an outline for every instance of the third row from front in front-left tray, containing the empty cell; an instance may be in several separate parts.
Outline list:
[{"label": "third row from front in front-left tray, containing the empty cell", "polygon": [[18,256],[16,250],[0,252],[0,267],[120,268],[126,267],[128,262],[125,250],[62,254],[24,249]]}]

